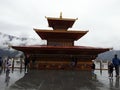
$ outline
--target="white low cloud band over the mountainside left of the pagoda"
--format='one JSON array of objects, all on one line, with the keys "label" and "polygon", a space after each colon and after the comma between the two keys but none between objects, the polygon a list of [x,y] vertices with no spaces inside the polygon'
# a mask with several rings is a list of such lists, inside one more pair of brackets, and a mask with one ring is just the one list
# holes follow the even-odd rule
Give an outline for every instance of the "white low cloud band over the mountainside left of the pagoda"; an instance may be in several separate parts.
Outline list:
[{"label": "white low cloud band over the mountainside left of the pagoda", "polygon": [[11,45],[34,45],[40,44],[41,40],[34,38],[16,37],[0,33],[0,48],[6,48]]}]

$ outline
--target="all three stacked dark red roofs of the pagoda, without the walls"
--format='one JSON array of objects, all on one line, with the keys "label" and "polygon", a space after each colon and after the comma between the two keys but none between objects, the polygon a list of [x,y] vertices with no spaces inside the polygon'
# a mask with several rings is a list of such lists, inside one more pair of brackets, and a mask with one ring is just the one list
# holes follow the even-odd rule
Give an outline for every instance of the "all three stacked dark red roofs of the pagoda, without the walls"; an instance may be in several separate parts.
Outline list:
[{"label": "all three stacked dark red roofs of the pagoda, without the walls", "polygon": [[[84,36],[88,31],[69,31],[77,19],[69,18],[52,18],[46,17],[49,27],[53,30],[34,29],[36,33],[43,40],[48,39],[71,39],[78,40]],[[68,31],[67,31],[68,30]],[[83,57],[82,59],[95,59],[95,57],[102,52],[110,50],[110,48],[96,48],[87,46],[47,46],[47,45],[33,45],[33,46],[12,46],[14,49],[30,54],[49,54],[49,55],[77,55]]]}]

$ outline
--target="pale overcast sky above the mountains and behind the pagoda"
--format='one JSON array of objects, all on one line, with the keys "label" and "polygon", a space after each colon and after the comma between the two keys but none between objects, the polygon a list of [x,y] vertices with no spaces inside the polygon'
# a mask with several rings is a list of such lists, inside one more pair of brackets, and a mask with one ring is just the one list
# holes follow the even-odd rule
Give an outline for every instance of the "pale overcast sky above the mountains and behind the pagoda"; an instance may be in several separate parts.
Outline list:
[{"label": "pale overcast sky above the mountains and behind the pagoda", "polygon": [[78,18],[72,30],[89,30],[75,45],[120,49],[120,0],[0,0],[0,32],[38,38],[45,16]]}]

